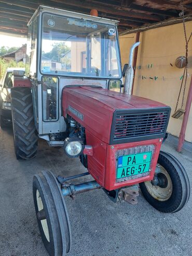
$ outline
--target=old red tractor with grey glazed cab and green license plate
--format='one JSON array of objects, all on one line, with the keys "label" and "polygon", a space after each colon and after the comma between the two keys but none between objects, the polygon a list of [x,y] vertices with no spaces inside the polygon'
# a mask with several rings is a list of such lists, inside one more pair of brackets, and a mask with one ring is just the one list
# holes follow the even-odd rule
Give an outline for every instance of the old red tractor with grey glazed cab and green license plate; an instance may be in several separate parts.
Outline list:
[{"label": "old red tractor with grey glazed cab and green license plate", "polygon": [[[71,177],[49,171],[34,176],[37,222],[49,254],[70,251],[64,196],[102,188],[115,203],[135,204],[139,184],[157,210],[181,210],[189,198],[187,174],[160,151],[170,107],[128,94],[130,64],[120,92],[117,22],[40,6],[28,26],[28,78],[15,76],[11,89],[16,157],[33,158],[42,138],[87,168]],[[87,175],[93,180],[67,182]]]}]

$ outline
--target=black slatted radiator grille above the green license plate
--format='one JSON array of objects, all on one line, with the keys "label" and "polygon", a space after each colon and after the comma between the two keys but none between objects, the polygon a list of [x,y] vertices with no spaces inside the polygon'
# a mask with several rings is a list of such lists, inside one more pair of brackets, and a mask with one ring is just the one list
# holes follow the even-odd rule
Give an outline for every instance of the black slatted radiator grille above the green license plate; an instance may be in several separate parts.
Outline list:
[{"label": "black slatted radiator grille above the green license plate", "polygon": [[169,115],[169,110],[140,113],[117,112],[113,126],[113,141],[146,136],[160,138],[166,132]]}]

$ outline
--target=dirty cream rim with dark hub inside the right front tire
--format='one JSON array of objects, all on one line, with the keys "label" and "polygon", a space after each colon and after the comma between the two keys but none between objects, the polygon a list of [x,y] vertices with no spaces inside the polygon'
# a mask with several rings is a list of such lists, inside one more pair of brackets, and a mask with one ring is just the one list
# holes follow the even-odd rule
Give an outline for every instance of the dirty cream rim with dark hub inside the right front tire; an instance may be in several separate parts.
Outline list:
[{"label": "dirty cream rim with dark hub inside the right front tire", "polygon": [[157,164],[155,174],[157,175],[160,184],[152,185],[152,182],[145,181],[147,191],[158,201],[167,201],[171,197],[173,190],[171,177],[166,169],[159,164]]}]

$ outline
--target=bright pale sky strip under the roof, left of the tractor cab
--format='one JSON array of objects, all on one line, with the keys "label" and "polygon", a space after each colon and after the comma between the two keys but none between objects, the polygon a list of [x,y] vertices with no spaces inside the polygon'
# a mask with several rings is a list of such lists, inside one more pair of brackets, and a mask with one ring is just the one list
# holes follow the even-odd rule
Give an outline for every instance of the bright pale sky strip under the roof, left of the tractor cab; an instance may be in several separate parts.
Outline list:
[{"label": "bright pale sky strip under the roof, left of the tractor cab", "polygon": [[0,34],[0,47],[2,46],[21,47],[25,43],[26,43],[26,38]]}]

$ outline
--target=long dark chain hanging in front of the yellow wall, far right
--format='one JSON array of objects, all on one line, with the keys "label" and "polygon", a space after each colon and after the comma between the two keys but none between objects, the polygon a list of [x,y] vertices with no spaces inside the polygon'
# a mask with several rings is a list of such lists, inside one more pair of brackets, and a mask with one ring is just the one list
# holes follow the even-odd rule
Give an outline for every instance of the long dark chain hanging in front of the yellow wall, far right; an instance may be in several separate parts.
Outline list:
[{"label": "long dark chain hanging in front of the yellow wall, far right", "polygon": [[176,107],[175,107],[175,112],[177,110],[178,104],[179,104],[179,100],[180,100],[180,95],[181,95],[181,90],[183,87],[183,81],[184,81],[184,77],[185,77],[185,83],[184,83],[184,88],[183,88],[183,97],[182,97],[182,104],[181,104],[181,109],[183,107],[183,103],[184,103],[184,99],[185,99],[185,89],[186,89],[186,84],[187,84],[187,68],[188,68],[188,43],[190,41],[190,38],[192,36],[192,32],[190,33],[189,39],[187,40],[187,33],[186,33],[186,27],[185,27],[185,15],[184,15],[184,8],[182,5],[182,16],[183,16],[183,29],[184,29],[184,35],[185,35],[185,61],[186,61],[186,65],[185,65],[185,69],[183,72],[183,78],[182,78],[182,82],[181,82],[181,87],[180,87],[180,92],[179,92],[179,96],[177,98],[177,102],[176,102]]}]

